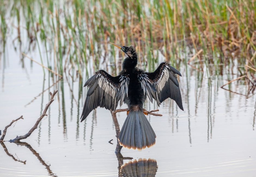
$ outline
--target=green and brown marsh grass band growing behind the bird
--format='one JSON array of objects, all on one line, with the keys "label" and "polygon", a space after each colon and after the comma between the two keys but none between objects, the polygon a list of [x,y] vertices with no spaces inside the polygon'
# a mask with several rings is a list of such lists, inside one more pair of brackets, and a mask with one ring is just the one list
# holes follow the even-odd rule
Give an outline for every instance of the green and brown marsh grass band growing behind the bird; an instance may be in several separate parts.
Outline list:
[{"label": "green and brown marsh grass band growing behind the bird", "polygon": [[162,56],[177,68],[183,63],[206,72],[209,80],[212,66],[217,75],[223,73],[220,68],[233,66],[238,77],[246,75],[253,83],[256,1],[2,0],[0,15],[1,54],[7,36],[17,30],[14,43],[20,53],[37,45],[41,64],[60,75],[75,71],[81,78],[99,65],[120,71],[125,56],[111,41],[136,46],[139,65],[149,71]]}]

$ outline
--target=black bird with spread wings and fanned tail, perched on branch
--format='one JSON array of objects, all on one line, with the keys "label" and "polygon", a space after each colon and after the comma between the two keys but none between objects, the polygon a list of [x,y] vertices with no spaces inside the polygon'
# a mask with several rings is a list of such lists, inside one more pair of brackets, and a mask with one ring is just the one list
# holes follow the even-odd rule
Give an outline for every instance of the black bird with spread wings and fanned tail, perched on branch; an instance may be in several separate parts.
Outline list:
[{"label": "black bird with spread wings and fanned tail, perched on branch", "polygon": [[[113,44],[113,43],[111,43]],[[143,103],[146,97],[152,102],[156,100],[159,106],[167,98],[175,100],[183,110],[181,92],[177,74],[180,72],[162,62],[156,71],[145,72],[136,67],[138,56],[133,46],[119,46],[128,57],[122,64],[122,71],[118,76],[111,76],[104,70],[95,74],[84,84],[89,87],[84,103],[81,122],[98,106],[108,110],[115,110],[118,102],[128,105],[129,114],[120,131],[118,140],[126,148],[144,149],[156,142],[156,134],[143,113]]]}]

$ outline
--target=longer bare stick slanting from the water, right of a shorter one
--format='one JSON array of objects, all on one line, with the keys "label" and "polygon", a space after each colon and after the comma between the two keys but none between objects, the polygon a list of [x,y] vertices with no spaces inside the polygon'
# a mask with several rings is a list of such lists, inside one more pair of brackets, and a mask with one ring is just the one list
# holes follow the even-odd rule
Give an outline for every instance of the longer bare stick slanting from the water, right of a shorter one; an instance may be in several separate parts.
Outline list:
[{"label": "longer bare stick slanting from the water, right of a shorter one", "polygon": [[48,110],[48,108],[49,108],[49,106],[51,105],[51,103],[54,101],[53,98],[54,98],[55,94],[57,93],[57,91],[58,91],[58,90],[56,90],[56,91],[54,90],[53,93],[50,92],[50,95],[51,95],[50,101],[46,104],[46,106],[45,106],[45,108],[44,108],[43,114],[37,119],[35,125],[29,130],[29,132],[26,133],[26,134],[23,135],[23,136],[17,136],[16,138],[10,140],[10,142],[20,141],[21,139],[28,138],[28,137],[31,135],[31,133],[32,133],[35,129],[37,129],[37,126],[38,126],[39,122],[44,118],[45,115],[47,115],[47,114],[46,114],[46,111]]}]

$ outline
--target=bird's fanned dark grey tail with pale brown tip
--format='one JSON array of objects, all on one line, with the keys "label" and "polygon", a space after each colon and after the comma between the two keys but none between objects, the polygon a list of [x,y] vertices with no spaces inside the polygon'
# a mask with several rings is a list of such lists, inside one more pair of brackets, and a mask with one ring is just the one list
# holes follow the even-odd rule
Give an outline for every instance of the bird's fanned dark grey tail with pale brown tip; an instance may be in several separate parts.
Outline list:
[{"label": "bird's fanned dark grey tail with pale brown tip", "polygon": [[126,148],[144,149],[156,142],[156,134],[142,111],[130,111],[118,137]]}]

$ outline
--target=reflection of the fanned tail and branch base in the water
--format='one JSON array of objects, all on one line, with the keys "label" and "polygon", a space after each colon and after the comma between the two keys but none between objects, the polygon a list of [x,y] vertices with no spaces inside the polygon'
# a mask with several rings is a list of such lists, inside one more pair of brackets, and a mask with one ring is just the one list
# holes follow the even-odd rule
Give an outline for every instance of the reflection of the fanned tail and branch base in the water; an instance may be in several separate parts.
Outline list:
[{"label": "reflection of the fanned tail and branch base in the water", "polygon": [[139,158],[138,160],[123,163],[123,160],[131,160],[131,157],[123,157],[121,153],[117,153],[118,159],[118,176],[128,177],[154,177],[158,169],[157,161],[155,159]]}]

